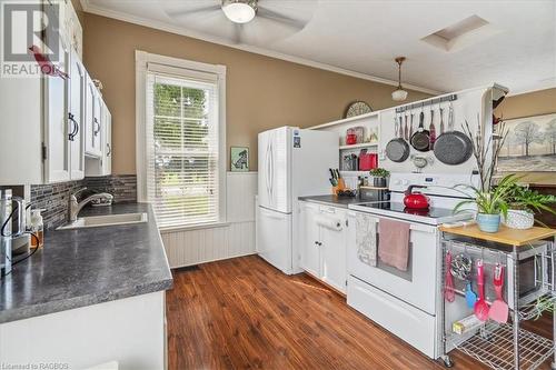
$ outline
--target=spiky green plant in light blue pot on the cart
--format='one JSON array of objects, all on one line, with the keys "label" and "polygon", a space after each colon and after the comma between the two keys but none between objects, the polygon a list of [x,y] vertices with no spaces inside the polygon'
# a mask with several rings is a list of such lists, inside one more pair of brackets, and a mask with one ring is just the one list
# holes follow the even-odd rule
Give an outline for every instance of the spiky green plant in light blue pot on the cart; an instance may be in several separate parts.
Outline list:
[{"label": "spiky green plant in light blue pot on the cart", "polygon": [[[466,186],[471,190],[475,199],[460,201],[455,208],[455,212],[464,211],[465,204],[475,203],[477,207],[477,224],[480,231],[497,232],[500,227],[500,214],[505,218],[508,214],[508,199],[513,192],[518,178],[515,174],[504,177],[496,187],[489,190],[483,190]],[[460,186],[459,186],[460,187]]]}]

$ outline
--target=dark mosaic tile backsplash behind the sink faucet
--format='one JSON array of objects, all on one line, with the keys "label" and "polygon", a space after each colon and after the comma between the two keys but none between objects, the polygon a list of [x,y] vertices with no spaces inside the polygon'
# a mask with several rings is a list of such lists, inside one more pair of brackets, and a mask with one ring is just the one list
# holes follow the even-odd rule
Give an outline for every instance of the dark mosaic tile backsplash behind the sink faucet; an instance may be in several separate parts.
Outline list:
[{"label": "dark mosaic tile backsplash behind the sink faucet", "polygon": [[109,192],[116,203],[137,201],[137,176],[117,174],[101,178],[85,178],[80,181],[69,181],[44,186],[31,186],[32,208],[44,209],[42,219],[44,229],[54,229],[67,222],[69,194],[83,187],[89,196],[92,192]]}]

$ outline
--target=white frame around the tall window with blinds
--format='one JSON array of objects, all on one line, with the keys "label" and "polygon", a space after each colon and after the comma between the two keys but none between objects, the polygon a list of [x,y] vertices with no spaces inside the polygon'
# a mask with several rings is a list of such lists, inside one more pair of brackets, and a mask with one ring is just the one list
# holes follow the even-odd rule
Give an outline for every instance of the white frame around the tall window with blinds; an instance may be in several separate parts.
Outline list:
[{"label": "white frame around the tall window with blinds", "polygon": [[[201,63],[179,58],[152,54],[136,50],[136,167],[137,167],[137,199],[148,202],[147,196],[147,72],[148,63],[157,63],[168,69],[178,68],[181,71],[190,70],[191,78],[195,71],[218,76],[218,217],[217,222],[187,224],[168,229],[206,228],[226,223],[226,66]],[[183,76],[187,77],[185,73]]]}]

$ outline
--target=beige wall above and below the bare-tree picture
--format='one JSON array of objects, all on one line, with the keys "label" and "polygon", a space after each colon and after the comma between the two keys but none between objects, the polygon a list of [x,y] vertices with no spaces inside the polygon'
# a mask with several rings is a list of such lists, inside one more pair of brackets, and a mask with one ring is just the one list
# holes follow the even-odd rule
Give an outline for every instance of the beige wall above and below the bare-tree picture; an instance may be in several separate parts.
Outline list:
[{"label": "beige wall above and below the bare-tree picture", "polygon": [[[556,113],[556,89],[547,89],[506,98],[496,109],[497,117],[514,119]],[[535,184],[556,184],[556,172],[519,172],[523,181]]]}]

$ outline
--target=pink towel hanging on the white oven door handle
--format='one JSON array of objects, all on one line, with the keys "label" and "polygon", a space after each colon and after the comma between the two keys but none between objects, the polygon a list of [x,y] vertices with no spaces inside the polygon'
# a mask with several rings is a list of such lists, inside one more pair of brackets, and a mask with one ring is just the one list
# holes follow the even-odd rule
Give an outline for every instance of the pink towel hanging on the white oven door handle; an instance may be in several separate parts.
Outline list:
[{"label": "pink towel hanging on the white oven door handle", "polygon": [[409,259],[409,223],[380,219],[378,222],[378,257],[389,266],[407,271]]}]

